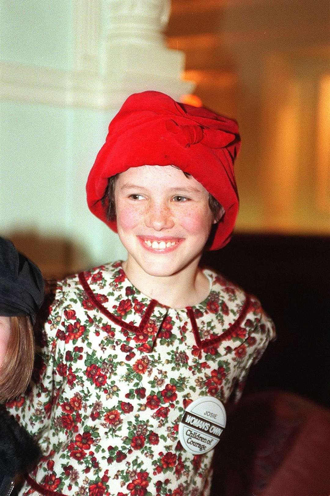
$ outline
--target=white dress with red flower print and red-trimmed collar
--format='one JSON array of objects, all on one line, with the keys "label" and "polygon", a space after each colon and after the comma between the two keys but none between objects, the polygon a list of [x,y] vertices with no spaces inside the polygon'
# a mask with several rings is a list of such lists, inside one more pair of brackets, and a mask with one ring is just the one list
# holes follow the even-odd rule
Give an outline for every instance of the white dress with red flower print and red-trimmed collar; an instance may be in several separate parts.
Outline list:
[{"label": "white dress with red flower print and red-trimmed collar", "polygon": [[209,495],[213,450],[183,449],[180,420],[201,396],[238,399],[275,331],[255,297],[204,273],[207,299],[179,310],[120,261],[57,283],[31,390],[7,405],[43,452],[20,496]]}]

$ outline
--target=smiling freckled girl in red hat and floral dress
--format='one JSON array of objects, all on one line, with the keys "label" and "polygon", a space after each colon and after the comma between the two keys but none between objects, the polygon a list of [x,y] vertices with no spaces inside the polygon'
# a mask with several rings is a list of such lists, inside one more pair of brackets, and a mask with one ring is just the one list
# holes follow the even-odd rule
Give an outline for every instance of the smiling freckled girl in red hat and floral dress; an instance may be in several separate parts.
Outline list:
[{"label": "smiling freckled girl in red hat and floral dress", "polygon": [[229,397],[274,338],[259,301],[213,270],[238,196],[237,123],[131,95],[87,182],[127,260],[57,285],[40,378],[18,413],[44,457],[21,495],[207,496]]}]

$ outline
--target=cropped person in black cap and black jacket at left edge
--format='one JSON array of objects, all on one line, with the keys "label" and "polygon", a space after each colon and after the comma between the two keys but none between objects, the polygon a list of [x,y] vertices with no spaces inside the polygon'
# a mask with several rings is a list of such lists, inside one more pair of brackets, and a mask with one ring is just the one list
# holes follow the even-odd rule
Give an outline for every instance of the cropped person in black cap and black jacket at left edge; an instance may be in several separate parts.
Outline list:
[{"label": "cropped person in black cap and black jacket at left edge", "polygon": [[[33,322],[44,298],[38,267],[0,238],[0,402],[23,393],[34,362]],[[13,403],[15,400],[13,401]],[[39,458],[31,436],[0,405],[0,495],[14,492],[18,474]]]}]

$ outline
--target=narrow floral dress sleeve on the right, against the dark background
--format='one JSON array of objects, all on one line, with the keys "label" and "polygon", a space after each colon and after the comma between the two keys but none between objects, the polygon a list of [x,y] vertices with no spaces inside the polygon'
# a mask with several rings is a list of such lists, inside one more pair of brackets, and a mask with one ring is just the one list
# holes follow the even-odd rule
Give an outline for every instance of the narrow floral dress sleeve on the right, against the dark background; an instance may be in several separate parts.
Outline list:
[{"label": "narrow floral dress sleeve on the right, against the dark background", "polygon": [[262,309],[259,300],[251,298],[249,310],[243,324],[247,330],[247,337],[240,347],[244,349],[244,357],[240,363],[240,372],[234,390],[234,402],[242,396],[251,365],[259,362],[270,341],[275,341],[276,332],[272,318]]}]

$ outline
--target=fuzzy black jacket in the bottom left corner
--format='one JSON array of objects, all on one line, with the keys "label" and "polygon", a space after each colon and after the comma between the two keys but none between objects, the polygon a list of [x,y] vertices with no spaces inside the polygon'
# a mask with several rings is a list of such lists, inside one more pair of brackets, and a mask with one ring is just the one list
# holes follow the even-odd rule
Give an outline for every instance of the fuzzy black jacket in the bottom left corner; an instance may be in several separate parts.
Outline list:
[{"label": "fuzzy black jacket in the bottom left corner", "polygon": [[38,445],[0,405],[0,496],[12,495],[15,475],[31,470],[39,457]]}]

